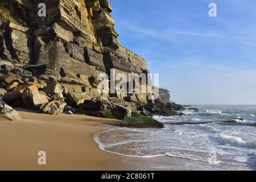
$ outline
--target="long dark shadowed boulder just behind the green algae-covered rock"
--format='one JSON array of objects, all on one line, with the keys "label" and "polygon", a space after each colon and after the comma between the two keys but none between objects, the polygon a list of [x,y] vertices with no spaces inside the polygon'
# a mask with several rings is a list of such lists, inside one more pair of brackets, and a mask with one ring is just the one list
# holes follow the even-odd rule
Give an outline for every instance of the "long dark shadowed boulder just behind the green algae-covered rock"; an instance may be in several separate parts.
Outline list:
[{"label": "long dark shadowed boulder just behind the green algae-covered rock", "polygon": [[84,103],[79,106],[79,112],[95,117],[106,117],[106,115],[108,115],[108,118],[110,118],[109,116],[113,115],[113,118],[116,119],[123,119],[131,115],[131,110],[127,107],[101,100],[85,100]]}]

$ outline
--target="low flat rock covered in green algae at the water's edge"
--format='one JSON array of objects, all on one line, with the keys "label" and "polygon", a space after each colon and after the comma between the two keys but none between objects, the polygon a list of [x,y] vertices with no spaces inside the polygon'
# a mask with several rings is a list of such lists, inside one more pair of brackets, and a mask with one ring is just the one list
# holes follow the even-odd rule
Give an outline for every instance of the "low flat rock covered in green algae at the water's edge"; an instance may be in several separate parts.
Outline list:
[{"label": "low flat rock covered in green algae at the water's edge", "polygon": [[156,121],[153,118],[137,115],[137,116],[126,116],[121,123],[121,127],[135,127],[135,128],[163,128],[163,123]]}]

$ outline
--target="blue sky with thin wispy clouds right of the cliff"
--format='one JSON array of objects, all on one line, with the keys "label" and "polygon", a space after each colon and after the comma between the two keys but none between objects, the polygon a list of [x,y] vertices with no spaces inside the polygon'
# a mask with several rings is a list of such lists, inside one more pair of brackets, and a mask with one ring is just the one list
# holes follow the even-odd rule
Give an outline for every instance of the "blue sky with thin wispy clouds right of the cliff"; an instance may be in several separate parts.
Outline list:
[{"label": "blue sky with thin wispy clouds right of the cliff", "polygon": [[159,73],[172,101],[256,104],[255,0],[109,2],[119,41]]}]

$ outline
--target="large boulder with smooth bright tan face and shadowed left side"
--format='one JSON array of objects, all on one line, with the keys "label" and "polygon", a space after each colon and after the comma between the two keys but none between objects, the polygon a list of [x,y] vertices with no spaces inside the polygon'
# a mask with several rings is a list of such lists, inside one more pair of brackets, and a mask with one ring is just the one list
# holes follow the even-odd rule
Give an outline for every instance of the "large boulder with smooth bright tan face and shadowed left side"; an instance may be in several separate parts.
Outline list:
[{"label": "large boulder with smooth bright tan face and shadowed left side", "polygon": [[27,109],[40,109],[40,106],[49,101],[49,98],[43,92],[39,92],[37,89],[27,88],[22,93],[22,101]]}]

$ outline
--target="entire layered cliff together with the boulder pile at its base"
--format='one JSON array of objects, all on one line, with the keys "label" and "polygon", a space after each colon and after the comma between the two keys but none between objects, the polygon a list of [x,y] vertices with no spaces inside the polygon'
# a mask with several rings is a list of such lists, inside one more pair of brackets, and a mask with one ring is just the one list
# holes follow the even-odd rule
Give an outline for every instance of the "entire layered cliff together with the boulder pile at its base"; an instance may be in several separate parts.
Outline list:
[{"label": "entire layered cliff together with the boulder pile at its base", "polygon": [[[39,3],[45,3],[46,16],[39,17]],[[161,113],[170,96],[166,91],[160,101],[149,100],[148,93],[97,90],[97,76],[110,78],[113,68],[115,74],[149,73],[146,61],[119,43],[112,10],[107,0],[0,0],[1,99],[11,106],[47,107],[46,113],[85,100],[98,100],[99,110],[130,113],[125,106],[135,113]],[[87,107],[81,112],[95,114]]]}]

